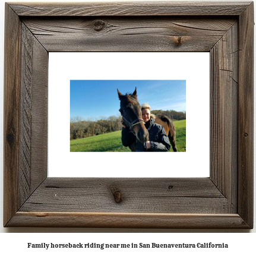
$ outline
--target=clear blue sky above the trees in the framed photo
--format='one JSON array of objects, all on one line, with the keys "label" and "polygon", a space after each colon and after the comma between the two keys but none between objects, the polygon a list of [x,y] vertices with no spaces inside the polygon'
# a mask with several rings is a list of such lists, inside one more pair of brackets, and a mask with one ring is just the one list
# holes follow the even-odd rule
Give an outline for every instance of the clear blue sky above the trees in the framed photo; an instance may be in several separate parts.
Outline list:
[{"label": "clear blue sky above the trees in the framed photo", "polygon": [[140,104],[148,102],[152,110],[186,110],[185,80],[71,80],[70,117],[119,115],[117,89],[125,94],[133,93],[135,87]]}]

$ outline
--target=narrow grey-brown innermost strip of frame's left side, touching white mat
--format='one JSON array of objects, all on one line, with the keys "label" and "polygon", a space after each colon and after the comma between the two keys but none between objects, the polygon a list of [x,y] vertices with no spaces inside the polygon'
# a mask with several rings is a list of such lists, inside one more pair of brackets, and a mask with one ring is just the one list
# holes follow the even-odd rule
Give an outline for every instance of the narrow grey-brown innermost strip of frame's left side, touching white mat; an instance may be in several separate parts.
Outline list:
[{"label": "narrow grey-brown innermost strip of frame's left side, touching white mat", "polygon": [[48,172],[48,52],[35,37],[32,67],[31,192]]}]

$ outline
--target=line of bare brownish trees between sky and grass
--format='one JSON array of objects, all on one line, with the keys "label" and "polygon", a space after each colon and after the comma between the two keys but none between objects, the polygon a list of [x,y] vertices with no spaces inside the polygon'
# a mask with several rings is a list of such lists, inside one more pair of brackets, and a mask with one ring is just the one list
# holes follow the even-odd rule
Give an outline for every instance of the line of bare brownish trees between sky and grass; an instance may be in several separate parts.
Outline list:
[{"label": "line of bare brownish trees between sky and grass", "polygon": [[[162,114],[168,116],[168,118],[175,120],[186,119],[186,112],[177,112],[175,110],[152,110],[154,115]],[[80,116],[75,116],[70,119],[70,140],[77,138],[87,138],[99,134],[105,134],[113,131],[120,131],[122,116],[109,116],[108,118],[102,117],[100,119],[86,119],[84,120]]]}]

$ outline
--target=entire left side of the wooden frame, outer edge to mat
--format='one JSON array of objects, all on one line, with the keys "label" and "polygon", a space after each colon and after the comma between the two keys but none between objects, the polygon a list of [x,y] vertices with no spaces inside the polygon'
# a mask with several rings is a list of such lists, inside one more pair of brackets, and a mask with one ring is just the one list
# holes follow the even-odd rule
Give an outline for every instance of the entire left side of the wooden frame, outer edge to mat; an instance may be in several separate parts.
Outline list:
[{"label": "entire left side of the wooden frame, outer edge to mat", "polygon": [[4,223],[46,178],[48,143],[48,52],[8,5],[6,21]]}]

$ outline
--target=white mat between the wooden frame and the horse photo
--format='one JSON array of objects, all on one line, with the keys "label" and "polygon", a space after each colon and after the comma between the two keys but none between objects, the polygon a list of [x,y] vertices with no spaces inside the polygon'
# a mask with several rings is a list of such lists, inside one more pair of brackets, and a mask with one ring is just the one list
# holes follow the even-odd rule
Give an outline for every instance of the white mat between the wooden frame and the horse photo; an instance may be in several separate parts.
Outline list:
[{"label": "white mat between the wooden frame and the horse photo", "polygon": [[[103,67],[108,67],[100,74],[94,68],[99,59]],[[49,176],[208,177],[209,72],[208,52],[49,53]],[[186,80],[186,152],[69,152],[70,80]],[[117,91],[114,93],[119,102]],[[200,120],[197,113],[204,119]],[[157,159],[165,159],[162,168]],[[124,165],[127,162],[130,164]]]}]

